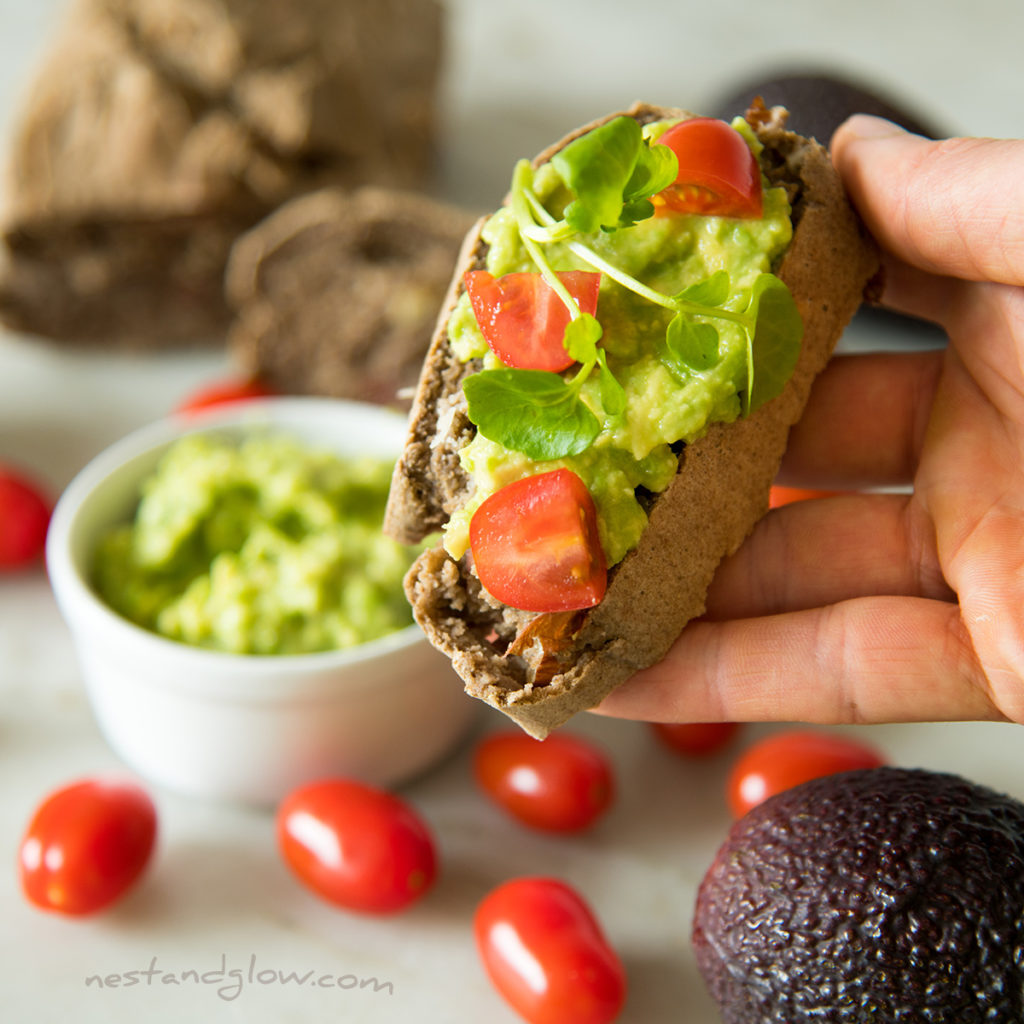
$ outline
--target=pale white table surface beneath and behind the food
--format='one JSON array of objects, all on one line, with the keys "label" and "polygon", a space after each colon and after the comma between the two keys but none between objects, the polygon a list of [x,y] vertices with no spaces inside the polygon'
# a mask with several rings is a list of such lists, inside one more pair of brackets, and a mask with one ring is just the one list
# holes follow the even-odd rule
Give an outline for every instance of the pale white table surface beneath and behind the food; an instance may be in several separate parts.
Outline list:
[{"label": "pale white table surface beneath and behind the food", "polygon": [[[0,0],[0,147],[60,9],[55,0]],[[638,98],[699,111],[737,79],[779,67],[867,77],[950,131],[1024,130],[1019,0],[459,0],[450,9],[436,190],[467,205],[493,205],[515,158],[577,123]],[[906,343],[919,342],[873,321],[857,322],[846,339],[850,347]],[[228,369],[219,350],[74,352],[0,329],[0,458],[32,467],[57,493],[106,444]],[[503,724],[481,716],[482,729]],[[475,793],[463,749],[403,791],[436,833],[442,873],[400,918],[349,915],[301,890],[278,859],[267,814],[157,791],[161,838],[144,882],[102,916],[62,920],[23,901],[17,840],[50,788],[124,768],[93,723],[44,572],[0,580],[0,1019],[511,1024],[517,1018],[477,963],[470,918],[504,878],[554,872],[588,897],[626,962],[624,1021],[712,1024],[717,1015],[688,934],[696,885],[728,826],[729,757],[684,764],[635,723],[582,716],[571,728],[598,738],[613,758],[620,799],[607,818],[583,838],[527,834]],[[745,740],[768,728],[753,728]],[[894,762],[959,771],[1024,798],[1018,727],[851,731]],[[150,983],[85,984],[90,975],[151,965],[162,973]],[[217,984],[211,972],[222,969]],[[208,981],[181,982],[189,971]],[[231,971],[244,977],[241,989]],[[377,979],[384,987],[300,986],[272,972]]]}]

